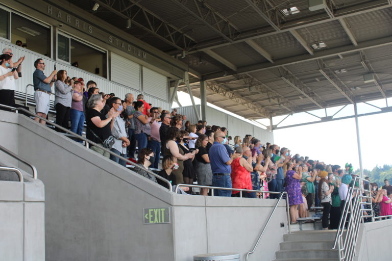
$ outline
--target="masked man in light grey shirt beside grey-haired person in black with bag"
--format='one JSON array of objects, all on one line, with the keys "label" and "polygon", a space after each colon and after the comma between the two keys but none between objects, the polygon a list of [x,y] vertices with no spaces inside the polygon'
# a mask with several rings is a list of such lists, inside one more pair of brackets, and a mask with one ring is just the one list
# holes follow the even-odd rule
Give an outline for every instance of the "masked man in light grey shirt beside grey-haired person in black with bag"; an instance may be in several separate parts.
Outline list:
[{"label": "masked man in light grey shirt beside grey-haired person in black with bag", "polygon": [[[80,94],[81,96],[83,94]],[[121,99],[118,97],[113,97],[109,100],[110,108],[113,108],[117,112],[123,112],[124,108],[122,107]],[[82,114],[83,115],[83,114]],[[107,115],[106,117],[108,117]],[[131,142],[127,138],[127,131],[125,129],[125,121],[121,117],[116,117],[113,121],[112,135],[114,137],[114,144],[110,149],[117,155],[120,155],[124,158],[127,158],[127,147],[131,144]],[[110,160],[117,162],[118,164],[126,167],[127,163],[124,160],[117,158],[116,156],[110,154]]]}]

